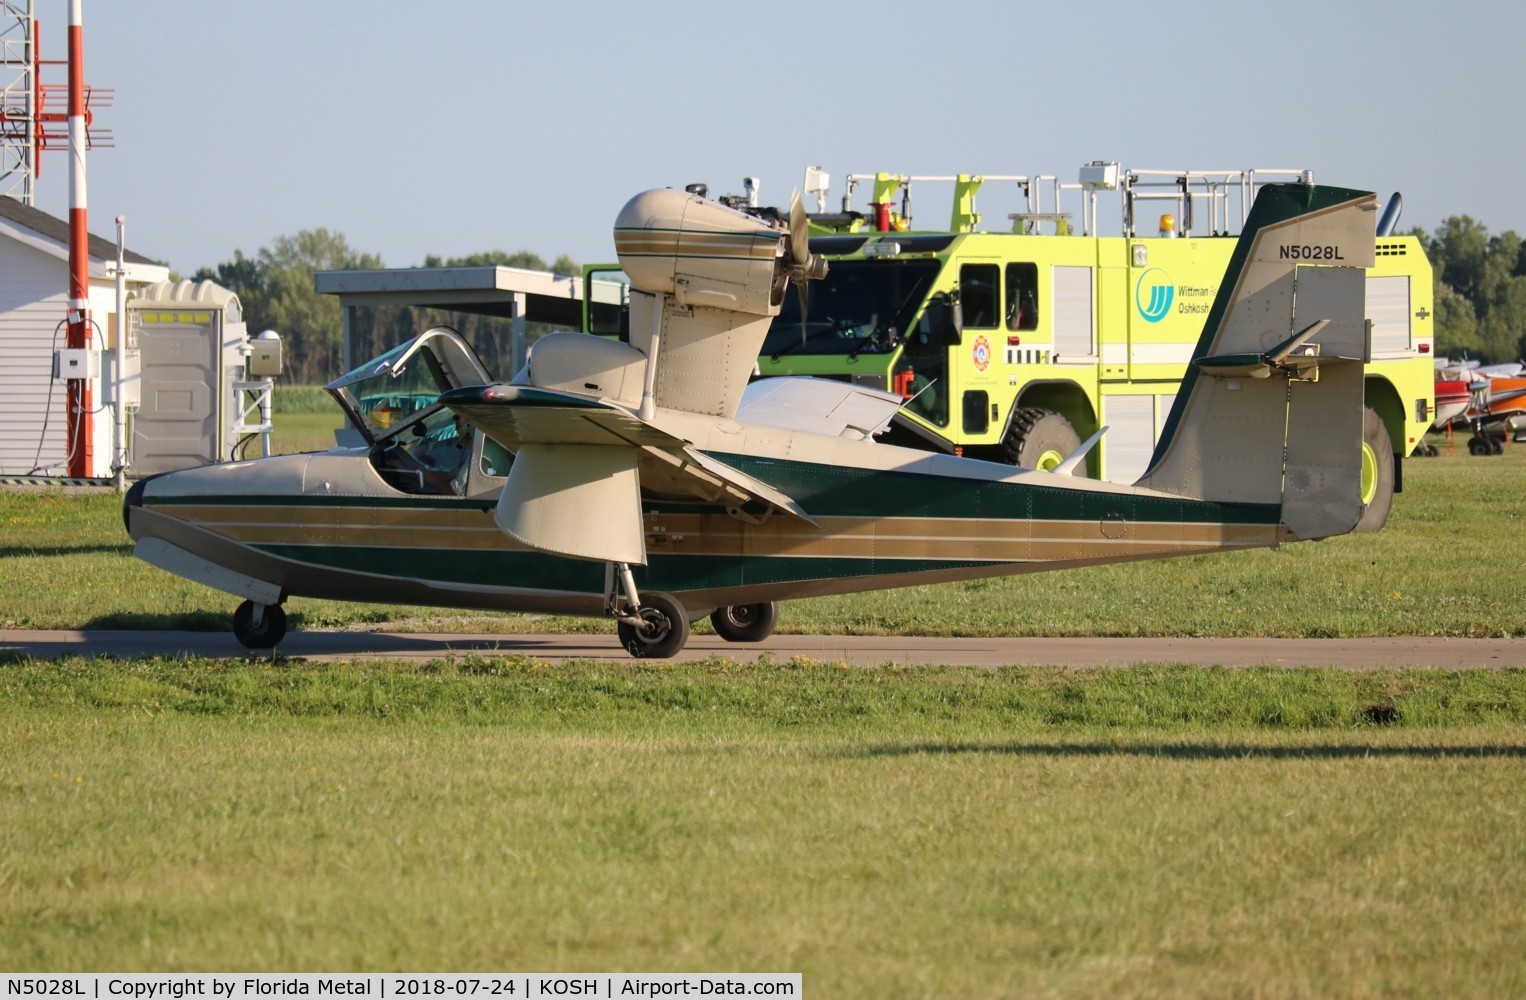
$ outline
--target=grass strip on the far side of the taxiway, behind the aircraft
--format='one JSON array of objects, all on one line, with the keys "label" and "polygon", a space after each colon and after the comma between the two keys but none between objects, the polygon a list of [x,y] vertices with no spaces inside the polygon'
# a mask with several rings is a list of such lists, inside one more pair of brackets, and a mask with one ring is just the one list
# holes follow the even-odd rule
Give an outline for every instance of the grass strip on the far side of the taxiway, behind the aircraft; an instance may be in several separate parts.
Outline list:
[{"label": "grass strip on the far side of the taxiway, behind the aircraft", "polygon": [[[278,420],[287,449],[337,411]],[[1198,556],[789,602],[780,631],[911,635],[1526,635],[1526,446],[1405,463],[1389,527]],[[0,626],[226,629],[235,598],[131,559],[111,495],[0,493]],[[598,620],[293,598],[291,627],[613,632]],[[708,626],[702,626],[708,627]]]}]

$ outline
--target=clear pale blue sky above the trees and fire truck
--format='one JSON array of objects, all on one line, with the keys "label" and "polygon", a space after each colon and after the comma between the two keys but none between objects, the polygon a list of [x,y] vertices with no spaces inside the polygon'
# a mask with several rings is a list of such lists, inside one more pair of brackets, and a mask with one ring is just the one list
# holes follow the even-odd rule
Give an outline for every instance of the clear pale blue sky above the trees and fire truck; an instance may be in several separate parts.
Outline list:
[{"label": "clear pale blue sky above the trees and fire truck", "polygon": [[[66,0],[37,14],[61,58]],[[128,246],[183,275],[317,226],[388,266],[609,260],[638,191],[751,174],[784,205],[809,163],[833,202],[876,169],[1309,168],[1402,191],[1404,229],[1526,232],[1506,0],[84,0],[84,21],[87,78],[116,89],[92,231],[125,214]],[[64,156],[43,171],[63,215]],[[946,188],[914,198],[946,218]],[[980,208],[992,227],[1015,206],[987,186]]]}]

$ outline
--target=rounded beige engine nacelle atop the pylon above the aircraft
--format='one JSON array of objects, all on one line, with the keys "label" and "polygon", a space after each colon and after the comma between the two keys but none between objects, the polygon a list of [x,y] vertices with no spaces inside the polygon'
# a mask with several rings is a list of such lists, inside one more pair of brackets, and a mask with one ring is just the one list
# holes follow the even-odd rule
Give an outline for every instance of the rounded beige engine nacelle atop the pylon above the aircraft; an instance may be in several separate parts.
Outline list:
[{"label": "rounded beige engine nacelle atop the pylon above the aircraft", "polygon": [[679,305],[777,316],[789,284],[783,227],[671,188],[626,203],[615,253],[632,285]]}]

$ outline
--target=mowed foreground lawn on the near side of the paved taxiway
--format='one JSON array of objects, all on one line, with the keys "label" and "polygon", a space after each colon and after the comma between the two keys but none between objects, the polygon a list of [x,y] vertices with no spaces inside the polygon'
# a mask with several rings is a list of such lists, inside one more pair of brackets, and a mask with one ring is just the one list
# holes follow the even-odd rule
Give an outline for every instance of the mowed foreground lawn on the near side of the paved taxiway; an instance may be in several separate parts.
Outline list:
[{"label": "mowed foreground lawn on the near side of the paved taxiway", "polygon": [[1526,994],[1526,672],[0,666],[6,969]]}]

